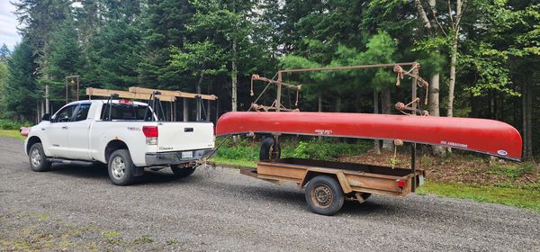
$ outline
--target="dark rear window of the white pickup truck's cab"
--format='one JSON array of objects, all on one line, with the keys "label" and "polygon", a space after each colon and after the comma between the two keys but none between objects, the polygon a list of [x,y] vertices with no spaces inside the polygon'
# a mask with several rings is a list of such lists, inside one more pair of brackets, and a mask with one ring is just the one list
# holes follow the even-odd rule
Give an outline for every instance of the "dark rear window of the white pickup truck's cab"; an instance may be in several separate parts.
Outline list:
[{"label": "dark rear window of the white pickup truck's cab", "polygon": [[[109,119],[109,107],[112,106],[111,118]],[[152,112],[147,112],[147,118],[145,118],[145,112],[147,112],[147,105],[142,104],[124,104],[124,103],[112,103],[103,104],[101,119],[103,121],[119,120],[119,121],[153,121]]]}]

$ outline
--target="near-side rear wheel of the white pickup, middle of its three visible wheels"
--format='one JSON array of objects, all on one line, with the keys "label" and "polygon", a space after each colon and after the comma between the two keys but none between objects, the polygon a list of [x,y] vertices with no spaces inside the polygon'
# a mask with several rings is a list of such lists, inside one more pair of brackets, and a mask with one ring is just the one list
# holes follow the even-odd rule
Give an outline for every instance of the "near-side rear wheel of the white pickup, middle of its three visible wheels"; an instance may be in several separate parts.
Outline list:
[{"label": "near-side rear wheel of the white pickup, middle of its three visible wheels", "polygon": [[107,162],[107,170],[112,184],[127,185],[134,180],[134,173],[137,167],[133,165],[130,151],[127,149],[117,149],[112,152]]}]

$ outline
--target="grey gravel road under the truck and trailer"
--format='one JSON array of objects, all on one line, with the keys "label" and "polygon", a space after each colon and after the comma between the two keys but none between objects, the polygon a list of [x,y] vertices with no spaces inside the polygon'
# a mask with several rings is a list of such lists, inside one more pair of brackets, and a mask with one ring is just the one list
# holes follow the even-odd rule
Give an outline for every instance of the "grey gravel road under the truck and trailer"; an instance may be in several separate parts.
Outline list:
[{"label": "grey gravel road under the truck and trailer", "polygon": [[0,138],[0,250],[540,251],[540,214],[414,195],[346,202],[333,217],[303,192],[225,168],[112,185],[104,166],[31,172],[23,142]]}]

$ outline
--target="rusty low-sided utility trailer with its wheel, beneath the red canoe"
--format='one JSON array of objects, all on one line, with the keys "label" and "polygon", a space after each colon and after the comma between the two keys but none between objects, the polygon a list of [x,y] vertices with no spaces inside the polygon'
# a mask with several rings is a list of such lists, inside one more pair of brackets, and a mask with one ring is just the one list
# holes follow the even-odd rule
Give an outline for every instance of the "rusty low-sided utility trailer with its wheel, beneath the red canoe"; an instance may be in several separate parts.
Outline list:
[{"label": "rusty low-sided utility trailer with its wheel, beneath the red canoe", "polygon": [[337,213],[345,200],[365,202],[372,193],[402,198],[423,184],[426,175],[423,170],[294,157],[239,169],[243,175],[275,184],[298,184],[305,188],[309,209],[323,215]]}]

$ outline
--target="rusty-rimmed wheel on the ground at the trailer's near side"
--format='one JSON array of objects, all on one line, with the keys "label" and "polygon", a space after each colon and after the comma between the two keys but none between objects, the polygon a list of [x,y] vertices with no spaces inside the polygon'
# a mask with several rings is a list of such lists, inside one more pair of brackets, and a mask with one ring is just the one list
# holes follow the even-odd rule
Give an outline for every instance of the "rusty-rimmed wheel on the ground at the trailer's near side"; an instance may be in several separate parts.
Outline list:
[{"label": "rusty-rimmed wheel on the ground at the trailer's near side", "polygon": [[345,201],[341,185],[328,175],[312,178],[306,185],[305,197],[310,211],[322,215],[336,214]]}]

